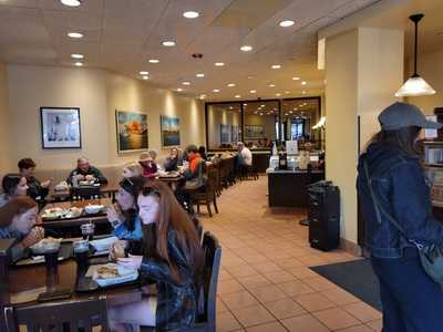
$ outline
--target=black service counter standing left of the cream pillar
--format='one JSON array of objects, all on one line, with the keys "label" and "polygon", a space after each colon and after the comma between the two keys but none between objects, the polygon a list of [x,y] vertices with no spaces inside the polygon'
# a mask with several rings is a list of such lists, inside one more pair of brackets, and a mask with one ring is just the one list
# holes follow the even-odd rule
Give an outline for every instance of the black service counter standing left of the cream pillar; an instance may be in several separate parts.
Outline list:
[{"label": "black service counter standing left of the cream pillar", "polygon": [[308,185],[324,179],[324,170],[274,170],[268,169],[269,207],[308,206]]}]

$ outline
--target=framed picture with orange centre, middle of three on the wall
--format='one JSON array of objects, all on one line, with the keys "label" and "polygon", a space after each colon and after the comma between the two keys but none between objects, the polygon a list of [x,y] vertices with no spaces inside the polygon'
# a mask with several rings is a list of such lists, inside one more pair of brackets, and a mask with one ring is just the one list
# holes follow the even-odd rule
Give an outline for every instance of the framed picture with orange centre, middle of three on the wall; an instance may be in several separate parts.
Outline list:
[{"label": "framed picture with orange centre, middle of three on the wall", "polygon": [[115,111],[119,153],[147,149],[147,115],[142,113]]}]

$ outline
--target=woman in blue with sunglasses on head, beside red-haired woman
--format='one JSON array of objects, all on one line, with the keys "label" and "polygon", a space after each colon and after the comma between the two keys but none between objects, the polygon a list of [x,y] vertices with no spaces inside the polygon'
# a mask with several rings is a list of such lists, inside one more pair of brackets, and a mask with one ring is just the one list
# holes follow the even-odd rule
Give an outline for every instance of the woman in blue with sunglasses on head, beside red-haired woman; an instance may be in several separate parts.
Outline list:
[{"label": "woman in blue with sunglasses on head, beside red-haired woman", "polygon": [[137,216],[136,199],[144,181],[143,177],[121,180],[115,195],[116,203],[107,209],[107,220],[114,228],[112,234],[121,240],[142,239],[142,222]]}]

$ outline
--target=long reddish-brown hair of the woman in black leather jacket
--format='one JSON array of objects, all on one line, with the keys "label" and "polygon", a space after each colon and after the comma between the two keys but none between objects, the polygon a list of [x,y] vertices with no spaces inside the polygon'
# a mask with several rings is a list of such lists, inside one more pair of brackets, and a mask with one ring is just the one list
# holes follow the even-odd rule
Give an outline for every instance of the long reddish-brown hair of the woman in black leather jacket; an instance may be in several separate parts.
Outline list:
[{"label": "long reddish-brown hair of the woman in black leather jacket", "polygon": [[193,269],[196,281],[199,281],[203,269],[203,252],[197,230],[187,212],[178,204],[171,188],[159,180],[147,180],[142,188],[144,196],[153,193],[159,196],[159,217],[155,227],[155,256],[164,260],[172,271],[173,280],[181,282],[178,267],[171,259],[167,250],[167,236],[174,230],[177,236],[177,245],[185,252],[187,264]]}]

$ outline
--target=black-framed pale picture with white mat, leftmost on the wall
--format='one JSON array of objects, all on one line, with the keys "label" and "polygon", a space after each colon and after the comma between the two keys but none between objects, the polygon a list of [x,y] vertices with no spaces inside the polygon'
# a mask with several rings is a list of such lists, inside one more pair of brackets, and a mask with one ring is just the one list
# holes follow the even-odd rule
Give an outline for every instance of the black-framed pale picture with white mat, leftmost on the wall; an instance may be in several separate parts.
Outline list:
[{"label": "black-framed pale picture with white mat, leftmost on the wall", "polygon": [[40,107],[43,148],[81,148],[79,107]]}]

